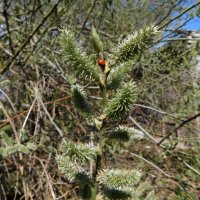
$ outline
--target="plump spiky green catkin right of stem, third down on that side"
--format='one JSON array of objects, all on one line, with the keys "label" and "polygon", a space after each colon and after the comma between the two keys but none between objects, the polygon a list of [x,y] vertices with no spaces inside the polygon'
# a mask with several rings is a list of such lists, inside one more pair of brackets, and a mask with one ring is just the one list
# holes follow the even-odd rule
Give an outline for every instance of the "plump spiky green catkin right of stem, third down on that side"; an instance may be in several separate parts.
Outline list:
[{"label": "plump spiky green catkin right of stem, third down on that side", "polygon": [[105,114],[114,120],[124,119],[132,109],[137,98],[136,85],[133,82],[123,83],[116,96],[108,103]]}]

